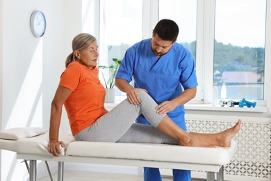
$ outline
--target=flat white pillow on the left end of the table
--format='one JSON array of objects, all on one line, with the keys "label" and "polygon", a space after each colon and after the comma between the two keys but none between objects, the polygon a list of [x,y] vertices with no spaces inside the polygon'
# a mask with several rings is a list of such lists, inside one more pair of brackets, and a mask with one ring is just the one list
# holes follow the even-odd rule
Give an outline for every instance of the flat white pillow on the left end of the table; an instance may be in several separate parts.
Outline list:
[{"label": "flat white pillow on the left end of the table", "polygon": [[0,130],[0,139],[17,140],[31,138],[39,134],[44,134],[47,129],[42,127],[14,127],[11,129]]}]

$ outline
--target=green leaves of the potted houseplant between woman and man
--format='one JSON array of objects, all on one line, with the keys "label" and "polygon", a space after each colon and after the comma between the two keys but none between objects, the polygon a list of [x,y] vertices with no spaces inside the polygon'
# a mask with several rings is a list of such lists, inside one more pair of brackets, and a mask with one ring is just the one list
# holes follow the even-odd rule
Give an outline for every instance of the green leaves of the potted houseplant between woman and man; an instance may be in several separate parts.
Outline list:
[{"label": "green leaves of the potted houseplant between woman and man", "polygon": [[115,86],[115,77],[117,74],[117,70],[120,67],[120,63],[122,63],[122,59],[120,58],[112,58],[112,59],[115,64],[98,66],[99,69],[108,69],[108,73],[109,73],[108,80],[106,80],[104,76],[104,72],[101,70],[101,75],[103,76],[104,84],[106,88],[113,88]]}]

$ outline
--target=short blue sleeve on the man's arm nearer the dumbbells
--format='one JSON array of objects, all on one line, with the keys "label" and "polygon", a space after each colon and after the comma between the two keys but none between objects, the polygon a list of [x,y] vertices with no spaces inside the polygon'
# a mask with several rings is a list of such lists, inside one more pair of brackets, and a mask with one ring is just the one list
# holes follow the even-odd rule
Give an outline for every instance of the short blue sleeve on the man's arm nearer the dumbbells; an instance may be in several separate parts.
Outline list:
[{"label": "short blue sleeve on the man's arm nearer the dumbbells", "polygon": [[181,63],[179,63],[179,68],[181,68],[180,83],[184,90],[198,85],[195,72],[195,61],[190,52],[186,52],[186,56],[184,56]]}]

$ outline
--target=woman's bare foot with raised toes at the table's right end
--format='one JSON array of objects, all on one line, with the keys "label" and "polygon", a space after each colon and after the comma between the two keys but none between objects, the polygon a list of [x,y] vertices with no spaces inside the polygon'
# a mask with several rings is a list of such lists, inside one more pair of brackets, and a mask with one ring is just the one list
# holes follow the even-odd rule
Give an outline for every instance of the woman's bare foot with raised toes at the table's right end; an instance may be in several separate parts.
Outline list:
[{"label": "woman's bare foot with raised toes at the table's right end", "polygon": [[234,125],[233,127],[229,129],[224,130],[224,132],[221,132],[217,139],[218,146],[230,147],[231,139],[233,139],[233,136],[235,136],[236,133],[239,132],[241,123],[242,123],[242,120],[239,119],[236,125]]}]

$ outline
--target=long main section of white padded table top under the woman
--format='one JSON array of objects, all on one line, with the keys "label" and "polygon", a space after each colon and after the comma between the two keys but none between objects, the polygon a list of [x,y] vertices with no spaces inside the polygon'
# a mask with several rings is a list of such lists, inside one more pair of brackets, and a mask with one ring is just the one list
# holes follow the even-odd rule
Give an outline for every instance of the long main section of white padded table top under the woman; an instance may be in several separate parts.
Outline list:
[{"label": "long main section of white padded table top under the woman", "polygon": [[235,152],[235,141],[232,141],[230,148],[199,148],[154,143],[74,141],[67,145],[66,155],[224,165],[231,161]]}]

